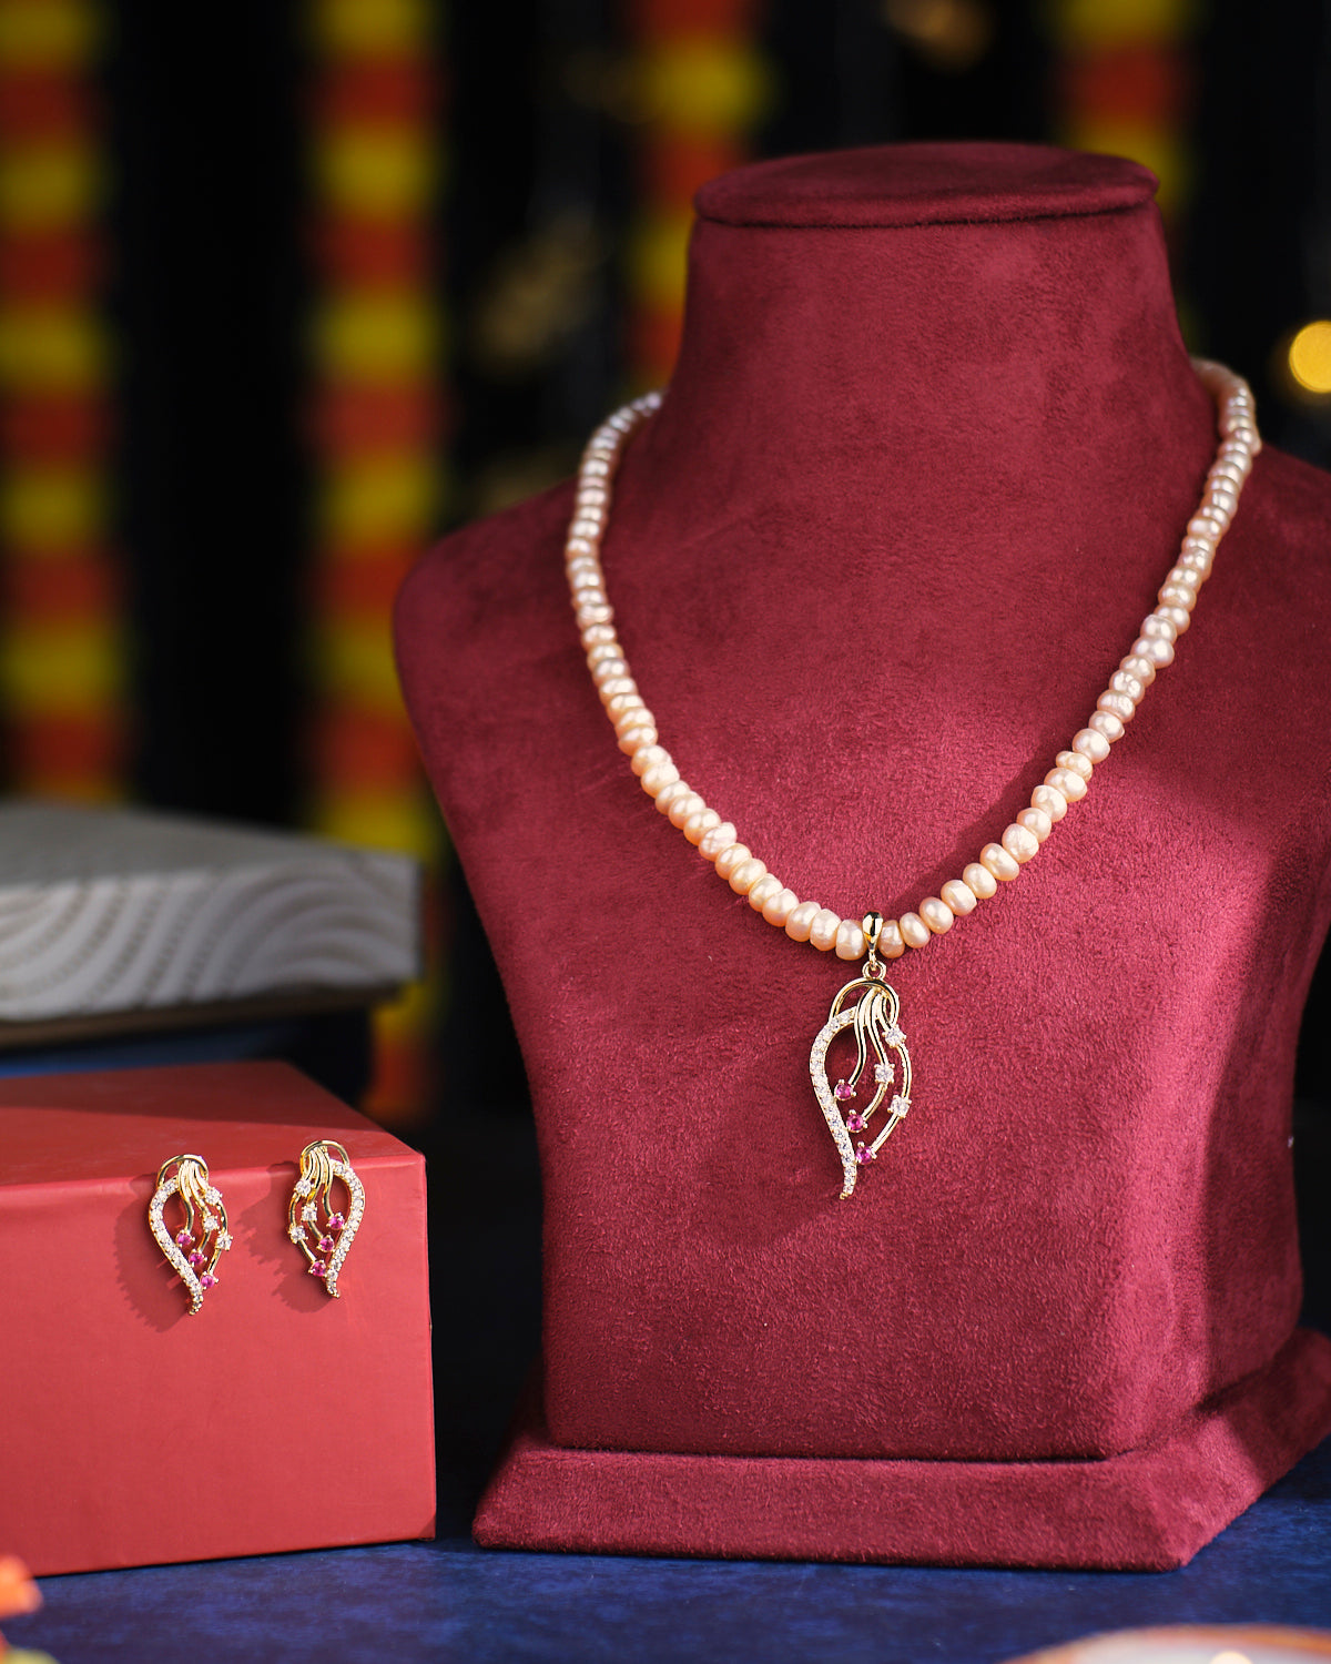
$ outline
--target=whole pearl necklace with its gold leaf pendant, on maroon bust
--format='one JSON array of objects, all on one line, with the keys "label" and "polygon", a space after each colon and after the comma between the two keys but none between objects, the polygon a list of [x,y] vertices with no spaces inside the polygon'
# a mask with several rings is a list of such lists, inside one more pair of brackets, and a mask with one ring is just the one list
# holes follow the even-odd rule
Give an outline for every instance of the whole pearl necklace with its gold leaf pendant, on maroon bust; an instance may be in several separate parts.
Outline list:
[{"label": "whole pearl necklace with its gold leaf pendant, on maroon bust", "polygon": [[[1248,384],[1223,364],[1193,359],[1193,368],[1216,401],[1220,448],[1206,474],[1201,503],[1188,521],[1178,562],[1160,586],[1155,611],[1141,621],[1136,641],[1110,676],[1110,686],[1096,699],[1086,726],[1076,730],[1068,750],[1058,752],[1053,767],[1030,794],[1030,807],[1003,829],[997,844],[985,844],[978,857],[962,869],[960,879],[948,880],[937,895],[927,895],[913,912],[902,914],[900,919],[885,920],[880,914],[868,912],[855,922],[840,919],[819,902],[802,902],[740,842],[735,827],[722,820],[715,809],[709,809],[680,779],[670,754],[659,744],[656,717],[629,672],[614,632],[614,612],[601,567],[601,541],[609,521],[616,469],[629,436],[661,408],[662,394],[649,393],[616,411],[597,428],[582,453],[577,499],[564,546],[566,571],[587,667],[614,724],[619,749],[629,757],[629,767],[670,825],[679,827],[697,845],[699,854],[715,865],[717,875],[737,895],[745,895],[767,924],[785,930],[792,942],[810,942],[842,960],[863,960],[858,977],[847,982],[832,1002],[809,1055],[814,1095],[842,1161],[842,1198],[854,1193],[860,1166],[877,1160],[878,1150],[910,1110],[910,1053],[897,1020],[900,1003],[885,980],[883,960],[900,958],[907,948],[923,948],[935,935],[947,935],[958,919],[965,919],[1000,884],[1010,884],[1020,874],[1068,812],[1068,805],[1086,795],[1093,769],[1105,762],[1110,747],[1123,737],[1156,672],[1173,664],[1175,642],[1191,622],[1198,591],[1210,577],[1216,546],[1230,527],[1253,458],[1261,449]],[[827,1072],[827,1050],[844,1028],[854,1028],[855,1067],[834,1087]],[[863,1108],[842,1112],[842,1105],[855,1098],[870,1057],[875,1087],[872,1098]],[[890,1087],[898,1090],[887,1103],[882,1130],[872,1142],[852,1143],[850,1133],[868,1132]]]}]

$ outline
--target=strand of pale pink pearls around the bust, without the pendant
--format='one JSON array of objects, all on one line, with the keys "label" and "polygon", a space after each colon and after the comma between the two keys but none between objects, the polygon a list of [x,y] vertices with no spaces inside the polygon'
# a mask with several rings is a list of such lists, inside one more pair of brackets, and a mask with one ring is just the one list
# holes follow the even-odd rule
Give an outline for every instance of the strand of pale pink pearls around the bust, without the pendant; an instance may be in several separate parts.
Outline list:
[{"label": "strand of pale pink pearls around the bust, without the pendant", "polygon": [[[1220,448],[1206,474],[1201,503],[1188,521],[1178,561],[1160,586],[1155,609],[1141,621],[1136,641],[1120,659],[1086,726],[1073,734],[1068,749],[1058,752],[1053,767],[1030,794],[1030,807],[1003,829],[998,842],[985,844],[978,857],[962,869],[960,879],[940,885],[938,895],[927,895],[913,912],[883,924],[878,937],[882,958],[900,958],[908,947],[922,948],[935,935],[947,935],[958,919],[975,912],[980,902],[997,894],[1000,884],[1010,884],[1035,859],[1068,805],[1086,795],[1091,774],[1123,737],[1156,672],[1173,664],[1175,644],[1191,624],[1198,592],[1211,576],[1216,546],[1230,529],[1243,483],[1261,449],[1248,384],[1223,364],[1193,359],[1193,368],[1216,401]],[[863,958],[868,943],[857,920],[840,919],[820,902],[802,902],[740,842],[735,827],[722,820],[680,779],[674,759],[659,742],[656,717],[637,691],[614,632],[614,609],[601,567],[601,541],[624,446],[632,431],[661,408],[661,393],[649,393],[616,411],[597,428],[582,454],[564,556],[587,669],[606,716],[614,724],[619,749],[629,757],[629,767],[642,782],[642,790],[656,800],[657,810],[670,825],[679,827],[699,854],[714,864],[717,875],[735,895],[745,895],[749,905],[767,924],[785,930],[792,942],[812,942],[820,952],[832,952],[844,960]]]}]

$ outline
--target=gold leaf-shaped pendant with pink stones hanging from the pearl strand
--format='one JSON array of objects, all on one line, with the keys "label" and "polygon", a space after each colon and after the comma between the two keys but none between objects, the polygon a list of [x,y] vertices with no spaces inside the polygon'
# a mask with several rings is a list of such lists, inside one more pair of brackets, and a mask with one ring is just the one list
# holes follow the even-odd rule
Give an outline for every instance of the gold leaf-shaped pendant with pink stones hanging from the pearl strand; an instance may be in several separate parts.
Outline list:
[{"label": "gold leaf-shaped pendant with pink stones hanging from the pearl strand", "polygon": [[[809,1078],[814,1082],[814,1095],[824,1113],[827,1128],[842,1158],[842,1201],[855,1190],[855,1180],[867,1161],[877,1161],[878,1150],[905,1120],[910,1110],[910,1053],[905,1048],[897,1017],[900,1000],[897,990],[885,982],[883,962],[878,958],[878,934],[882,932],[882,914],[867,914],[863,934],[868,942],[868,955],[860,967],[860,975],[840,990],[827,1013],[827,1022],[819,1030],[819,1038],[809,1053]],[[827,1048],[844,1030],[855,1028],[855,1067],[849,1077],[837,1080],[835,1087],[827,1073]],[[895,1058],[893,1058],[895,1053]],[[860,1078],[872,1060],[873,1097],[860,1108],[847,1108],[842,1115],[842,1103],[854,1105]],[[902,1078],[897,1082],[897,1063],[900,1062]],[[877,1115],[887,1098],[888,1088],[898,1087],[887,1105],[887,1125],[867,1143],[860,1138],[852,1143],[852,1133],[867,1133],[868,1123]]]}]

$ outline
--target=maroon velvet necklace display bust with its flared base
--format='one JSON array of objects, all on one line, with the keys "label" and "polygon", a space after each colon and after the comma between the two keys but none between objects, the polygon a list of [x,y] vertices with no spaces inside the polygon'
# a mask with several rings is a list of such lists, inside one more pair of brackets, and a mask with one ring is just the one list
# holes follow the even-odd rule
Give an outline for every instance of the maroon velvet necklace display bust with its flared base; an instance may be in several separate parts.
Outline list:
[{"label": "maroon velvet necklace display bust with its flared base", "polygon": [[[1151,195],[1012,145],[699,195],[611,599],[684,777],[840,915],[915,907],[1002,832],[1173,564],[1215,406]],[[546,1186],[542,1394],[477,1534],[1176,1564],[1331,1426],[1289,1158],[1331,481],[1258,458],[1086,799],[888,967],[913,1108],[847,1201],[807,1062],[854,967],[639,790],[569,611],[571,494],[449,537],[398,612]]]}]

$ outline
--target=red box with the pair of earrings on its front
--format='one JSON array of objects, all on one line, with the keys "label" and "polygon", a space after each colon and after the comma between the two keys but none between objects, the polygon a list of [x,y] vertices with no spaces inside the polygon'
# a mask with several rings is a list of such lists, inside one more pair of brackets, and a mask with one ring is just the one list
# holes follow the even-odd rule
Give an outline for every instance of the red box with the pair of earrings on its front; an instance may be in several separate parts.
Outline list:
[{"label": "red box with the pair of earrings on its front", "polygon": [[[286,1235],[318,1138],[366,1195],[338,1300]],[[183,1151],[233,1236],[196,1316],[146,1218]],[[0,1082],[0,1544],[37,1574],[434,1534],[424,1161],[296,1070]]]}]

